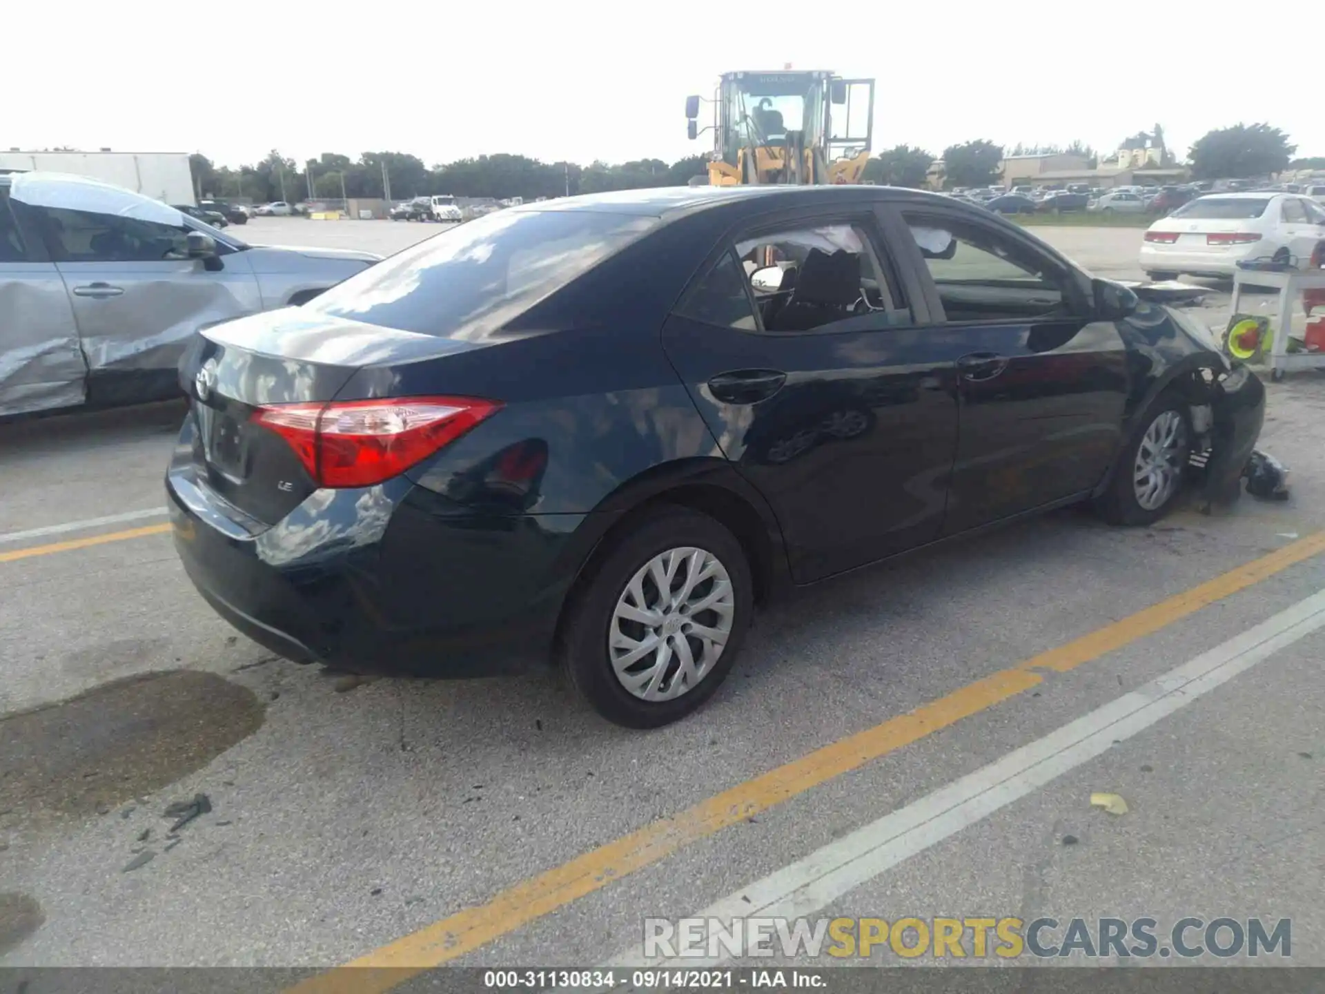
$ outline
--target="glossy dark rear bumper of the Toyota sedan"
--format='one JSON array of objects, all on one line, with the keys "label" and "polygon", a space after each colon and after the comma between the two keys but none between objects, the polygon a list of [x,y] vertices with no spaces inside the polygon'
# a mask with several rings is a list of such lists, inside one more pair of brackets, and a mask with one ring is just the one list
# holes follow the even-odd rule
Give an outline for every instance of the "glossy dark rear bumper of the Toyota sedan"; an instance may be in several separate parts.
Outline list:
[{"label": "glossy dark rear bumper of the Toyota sedan", "polygon": [[[478,517],[407,480],[319,490],[245,524],[176,459],[175,547],[193,586],[273,653],[356,673],[473,677],[550,657],[583,516]],[[551,518],[553,521],[549,521]]]}]

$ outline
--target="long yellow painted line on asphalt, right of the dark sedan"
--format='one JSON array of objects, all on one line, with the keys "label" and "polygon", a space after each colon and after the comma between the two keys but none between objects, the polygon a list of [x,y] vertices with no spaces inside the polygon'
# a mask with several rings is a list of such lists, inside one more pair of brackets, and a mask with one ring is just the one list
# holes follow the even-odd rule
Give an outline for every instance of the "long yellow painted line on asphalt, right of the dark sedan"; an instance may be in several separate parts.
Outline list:
[{"label": "long yellow painted line on asphalt, right of the dark sedan", "polygon": [[657,863],[688,843],[743,822],[750,815],[1015,697],[1041,683],[1043,677],[1036,671],[1073,669],[1322,551],[1325,533],[1308,535],[1065,645],[1041,652],[1011,669],[986,676],[913,712],[738,783],[677,815],[652,822],[560,867],[515,884],[486,904],[465,908],[388,942],[352,960],[346,967],[310,977],[290,987],[290,994],[376,994],[391,990],[411,977],[450,962],[607,887],[613,880]]}]

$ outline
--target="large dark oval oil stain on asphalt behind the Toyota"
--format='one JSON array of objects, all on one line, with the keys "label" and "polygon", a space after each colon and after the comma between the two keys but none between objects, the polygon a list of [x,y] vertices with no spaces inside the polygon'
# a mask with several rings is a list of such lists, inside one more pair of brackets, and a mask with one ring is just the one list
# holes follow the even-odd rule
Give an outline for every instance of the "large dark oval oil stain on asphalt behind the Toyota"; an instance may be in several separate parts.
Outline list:
[{"label": "large dark oval oil stain on asphalt behind the Toyota", "polygon": [[186,669],[114,680],[7,714],[0,814],[24,822],[106,814],[201,769],[264,717],[246,687]]}]

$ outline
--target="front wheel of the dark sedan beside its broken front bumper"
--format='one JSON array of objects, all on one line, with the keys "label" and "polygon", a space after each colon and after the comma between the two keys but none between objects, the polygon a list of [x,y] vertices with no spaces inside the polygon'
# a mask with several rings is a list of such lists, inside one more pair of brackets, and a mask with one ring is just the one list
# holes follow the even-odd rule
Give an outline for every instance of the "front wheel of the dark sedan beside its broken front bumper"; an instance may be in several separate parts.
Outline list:
[{"label": "front wheel of the dark sedan beside its broken front bumper", "polygon": [[1109,486],[1094,501],[1096,513],[1110,525],[1151,525],[1162,518],[1182,496],[1191,441],[1182,398],[1167,391],[1157,396],[1118,453]]}]

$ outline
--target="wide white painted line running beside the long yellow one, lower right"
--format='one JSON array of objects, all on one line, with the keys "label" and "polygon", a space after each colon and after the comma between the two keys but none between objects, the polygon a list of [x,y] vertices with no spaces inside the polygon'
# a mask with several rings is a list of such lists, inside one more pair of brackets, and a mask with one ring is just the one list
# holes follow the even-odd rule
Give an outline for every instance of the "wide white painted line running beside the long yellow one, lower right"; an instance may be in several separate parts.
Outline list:
[{"label": "wide white painted line running beside the long yellow one, lower right", "polygon": [[[1114,742],[1143,732],[1322,627],[1325,590],[1057,732],[723,897],[693,917],[717,918],[730,929],[733,918],[812,914],[898,863],[1106,753]],[[704,967],[726,958],[645,958],[641,934],[639,945],[621,952],[608,966]]]}]

